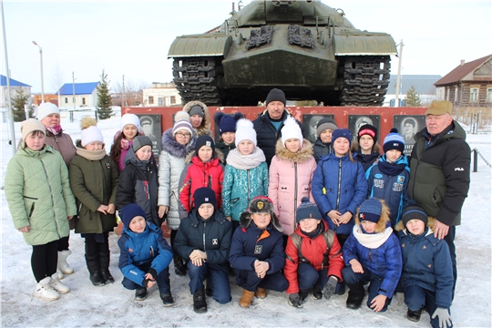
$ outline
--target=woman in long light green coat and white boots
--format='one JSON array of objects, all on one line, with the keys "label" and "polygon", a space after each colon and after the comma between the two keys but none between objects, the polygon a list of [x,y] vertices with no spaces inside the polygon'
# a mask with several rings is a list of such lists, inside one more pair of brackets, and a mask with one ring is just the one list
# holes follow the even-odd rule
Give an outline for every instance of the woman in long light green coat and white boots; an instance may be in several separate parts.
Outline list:
[{"label": "woman in long light green coat and white boots", "polygon": [[77,214],[68,170],[62,156],[45,144],[46,129],[38,120],[22,122],[24,141],[5,172],[5,198],[15,229],[33,246],[31,267],[35,296],[55,301],[70,289],[56,274],[58,241],[69,233],[68,220]]}]

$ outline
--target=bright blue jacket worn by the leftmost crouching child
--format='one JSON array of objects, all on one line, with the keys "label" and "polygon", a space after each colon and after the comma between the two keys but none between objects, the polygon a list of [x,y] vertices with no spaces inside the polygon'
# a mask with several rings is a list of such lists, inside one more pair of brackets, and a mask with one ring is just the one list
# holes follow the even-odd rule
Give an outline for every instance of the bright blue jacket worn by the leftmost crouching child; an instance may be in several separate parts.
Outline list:
[{"label": "bright blue jacket worn by the leftmost crouching child", "polygon": [[125,278],[140,286],[144,285],[147,272],[141,271],[139,267],[151,262],[150,269],[154,269],[159,275],[172,261],[172,250],[162,237],[162,231],[149,221],[145,231],[141,233],[135,233],[125,227],[118,239],[118,246],[119,270]]}]

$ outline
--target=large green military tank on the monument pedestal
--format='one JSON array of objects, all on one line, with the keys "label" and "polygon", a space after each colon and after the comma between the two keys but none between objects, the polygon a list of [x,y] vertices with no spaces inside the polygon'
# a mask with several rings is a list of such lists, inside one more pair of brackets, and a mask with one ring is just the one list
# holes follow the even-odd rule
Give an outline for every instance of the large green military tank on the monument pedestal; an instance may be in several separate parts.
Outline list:
[{"label": "large green military tank on the monument pedestal", "polygon": [[252,1],[213,30],[169,48],[186,103],[256,106],[272,87],[289,100],[382,106],[395,40],[356,29],[321,1]]}]

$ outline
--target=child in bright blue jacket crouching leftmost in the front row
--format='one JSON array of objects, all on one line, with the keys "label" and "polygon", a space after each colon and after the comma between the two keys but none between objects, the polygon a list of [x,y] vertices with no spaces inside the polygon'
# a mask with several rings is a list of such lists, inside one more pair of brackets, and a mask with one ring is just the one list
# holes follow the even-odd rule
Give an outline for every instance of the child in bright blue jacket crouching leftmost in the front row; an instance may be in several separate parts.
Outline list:
[{"label": "child in bright blue jacket crouching leftmost in the front row", "polygon": [[123,273],[123,286],[135,290],[135,301],[147,298],[147,289],[158,284],[164,306],[174,301],[169,286],[169,263],[172,250],[162,237],[162,231],[146,221],[146,213],[137,204],[121,209],[125,228],[118,240],[119,264]]}]

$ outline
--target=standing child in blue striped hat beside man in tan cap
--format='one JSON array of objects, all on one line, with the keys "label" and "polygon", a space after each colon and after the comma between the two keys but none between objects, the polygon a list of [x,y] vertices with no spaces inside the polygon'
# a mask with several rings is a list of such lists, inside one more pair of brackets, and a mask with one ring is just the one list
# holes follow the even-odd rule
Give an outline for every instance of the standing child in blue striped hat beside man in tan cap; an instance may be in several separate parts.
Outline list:
[{"label": "standing child in blue striped hat beside man in tan cap", "polygon": [[384,155],[365,172],[367,198],[384,200],[390,208],[391,226],[395,229],[402,210],[414,205],[407,193],[410,168],[404,155],[405,139],[396,128],[384,138]]}]

